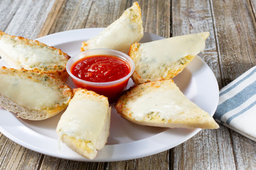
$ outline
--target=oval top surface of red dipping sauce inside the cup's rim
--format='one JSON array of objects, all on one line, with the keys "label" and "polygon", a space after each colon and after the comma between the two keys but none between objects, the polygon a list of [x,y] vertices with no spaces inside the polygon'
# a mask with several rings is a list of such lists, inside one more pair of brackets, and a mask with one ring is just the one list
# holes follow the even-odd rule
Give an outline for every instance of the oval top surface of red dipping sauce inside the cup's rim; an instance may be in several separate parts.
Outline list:
[{"label": "oval top surface of red dipping sauce inside the cup's rim", "polygon": [[129,72],[127,62],[109,55],[85,57],[71,67],[71,73],[75,77],[92,82],[115,81],[122,79]]}]

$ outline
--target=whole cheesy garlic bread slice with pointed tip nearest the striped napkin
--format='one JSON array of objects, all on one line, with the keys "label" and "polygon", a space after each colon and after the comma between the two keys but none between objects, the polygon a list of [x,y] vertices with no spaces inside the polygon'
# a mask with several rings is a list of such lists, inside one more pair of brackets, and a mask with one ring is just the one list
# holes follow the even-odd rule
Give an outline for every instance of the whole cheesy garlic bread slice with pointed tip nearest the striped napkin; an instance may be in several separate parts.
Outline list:
[{"label": "whole cheesy garlic bread slice with pointed tip nearest the striped napkin", "polygon": [[171,79],[150,81],[124,92],[117,113],[139,125],[165,128],[215,129],[215,120],[189,101]]}]

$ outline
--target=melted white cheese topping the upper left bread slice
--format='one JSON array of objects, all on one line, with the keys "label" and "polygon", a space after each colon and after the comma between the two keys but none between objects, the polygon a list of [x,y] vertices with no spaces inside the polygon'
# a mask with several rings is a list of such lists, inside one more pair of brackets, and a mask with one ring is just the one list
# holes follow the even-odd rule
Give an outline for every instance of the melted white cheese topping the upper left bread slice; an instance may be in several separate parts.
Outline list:
[{"label": "melted white cheese topping the upper left bread slice", "polygon": [[16,69],[48,67],[55,63],[63,64],[65,62],[57,51],[51,50],[47,46],[31,45],[17,38],[9,38],[9,36],[3,36],[0,39],[0,51],[4,60]]}]

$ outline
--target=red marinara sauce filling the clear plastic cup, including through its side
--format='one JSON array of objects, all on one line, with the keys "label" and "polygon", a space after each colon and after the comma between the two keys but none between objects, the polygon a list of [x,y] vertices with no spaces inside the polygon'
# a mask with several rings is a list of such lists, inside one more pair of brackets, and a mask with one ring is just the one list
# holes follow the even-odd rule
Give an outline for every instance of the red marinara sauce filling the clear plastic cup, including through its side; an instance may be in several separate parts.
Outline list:
[{"label": "red marinara sauce filling the clear plastic cup, including through its side", "polygon": [[[129,64],[124,60],[110,55],[94,55],[90,57],[82,58],[75,62],[70,72],[75,76],[85,81],[95,83],[106,83],[116,81],[127,76],[131,69]],[[95,86],[92,84],[81,83],[80,81],[74,81],[75,85],[88,90],[97,92],[107,96],[110,103],[115,101],[122,91],[127,86],[128,79],[120,81],[117,84]]]}]

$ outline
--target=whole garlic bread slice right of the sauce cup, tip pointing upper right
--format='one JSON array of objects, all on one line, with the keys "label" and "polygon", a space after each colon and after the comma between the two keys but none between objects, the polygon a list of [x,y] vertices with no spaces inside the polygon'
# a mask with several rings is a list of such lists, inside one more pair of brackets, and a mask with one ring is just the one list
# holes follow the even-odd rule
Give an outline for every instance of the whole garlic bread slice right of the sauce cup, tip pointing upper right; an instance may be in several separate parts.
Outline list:
[{"label": "whole garlic bread slice right of the sauce cup, tip pointing upper right", "polygon": [[208,36],[209,33],[205,32],[134,43],[129,50],[135,63],[134,83],[175,77],[205,49]]}]

